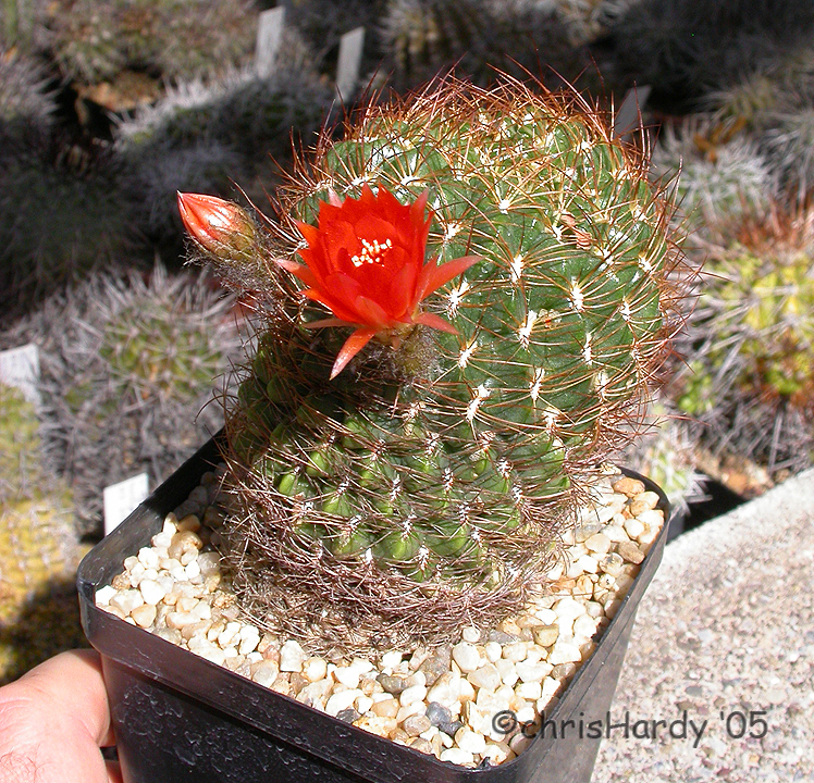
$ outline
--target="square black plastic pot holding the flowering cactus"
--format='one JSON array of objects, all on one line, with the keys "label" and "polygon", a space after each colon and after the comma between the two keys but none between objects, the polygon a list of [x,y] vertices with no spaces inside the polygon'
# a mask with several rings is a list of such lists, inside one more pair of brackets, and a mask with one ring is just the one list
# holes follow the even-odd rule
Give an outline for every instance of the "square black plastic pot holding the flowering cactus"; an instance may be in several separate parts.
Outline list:
[{"label": "square black plastic pot holding the flowering cactus", "polygon": [[[148,546],[168,512],[218,461],[203,446],[82,561],[82,621],[102,657],[125,783],[587,783],[600,739],[578,731],[539,733],[511,761],[467,769],[370,734],[131,625],[94,602],[124,558]],[[636,473],[628,472],[636,477]],[[643,478],[662,498],[663,493]],[[562,721],[604,720],[619,678],[636,610],[662,559],[665,525],[590,659],[554,712]]]}]

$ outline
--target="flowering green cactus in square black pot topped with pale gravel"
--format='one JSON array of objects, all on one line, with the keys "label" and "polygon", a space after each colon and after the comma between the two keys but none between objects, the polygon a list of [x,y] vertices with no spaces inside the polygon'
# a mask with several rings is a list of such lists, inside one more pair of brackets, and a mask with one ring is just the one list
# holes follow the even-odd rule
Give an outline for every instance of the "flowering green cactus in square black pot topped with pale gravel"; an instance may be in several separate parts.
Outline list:
[{"label": "flowering green cactus in square black pot topped with pale gravel", "polygon": [[[638,480],[604,485],[622,502],[601,520],[578,513],[602,486],[597,463],[631,437],[678,294],[668,206],[642,162],[572,99],[510,79],[491,90],[449,79],[368,108],[341,141],[323,138],[279,191],[274,221],[211,197],[181,195],[180,204],[194,254],[254,293],[260,326],[221,437],[79,572],[131,780],[180,780],[187,769],[246,781],[590,778],[592,734],[509,746],[494,732],[516,737],[545,698],[558,699],[554,717],[576,716],[589,686],[592,709],[609,706],[664,540],[654,522],[640,548],[592,526],[615,520],[644,535],[650,523],[637,520],[665,505]],[[183,504],[202,474],[197,514],[166,520],[195,507]],[[206,511],[215,498],[221,512]],[[212,557],[185,569],[207,540],[234,606],[200,608],[195,585]],[[566,563],[563,573],[567,543],[602,568]],[[622,566],[631,547],[638,555]],[[633,582],[629,567],[649,548]],[[147,593],[164,591],[162,569],[190,581],[188,595],[150,604],[146,582]],[[558,571],[607,604],[604,621],[593,617],[591,634],[605,629],[599,657],[581,636],[571,656],[576,617],[592,616],[552,595]],[[615,580],[629,588],[621,604]],[[523,614],[533,600],[535,620]],[[212,607],[220,625],[193,617]],[[238,618],[260,631],[235,637]],[[158,638],[159,619],[199,655]],[[568,623],[570,642],[556,629],[550,637]],[[507,670],[516,652],[520,673]],[[565,693],[538,695],[554,667],[569,679],[582,657]],[[287,679],[263,688],[249,680],[263,667]],[[312,680],[321,667],[330,676]],[[449,696],[442,686],[453,683]],[[515,683],[523,696],[497,709]],[[375,736],[393,722],[398,742]],[[442,734],[437,760],[427,745]]]}]

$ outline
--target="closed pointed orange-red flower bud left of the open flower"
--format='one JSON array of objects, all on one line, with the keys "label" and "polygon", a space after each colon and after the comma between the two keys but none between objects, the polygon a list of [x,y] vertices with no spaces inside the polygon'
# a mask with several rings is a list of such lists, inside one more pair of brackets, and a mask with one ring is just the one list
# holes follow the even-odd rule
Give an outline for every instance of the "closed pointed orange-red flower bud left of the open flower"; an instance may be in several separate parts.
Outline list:
[{"label": "closed pointed orange-red flower bud left of the open flower", "polygon": [[189,236],[214,256],[245,250],[254,228],[245,210],[231,201],[201,194],[178,194],[178,211]]}]

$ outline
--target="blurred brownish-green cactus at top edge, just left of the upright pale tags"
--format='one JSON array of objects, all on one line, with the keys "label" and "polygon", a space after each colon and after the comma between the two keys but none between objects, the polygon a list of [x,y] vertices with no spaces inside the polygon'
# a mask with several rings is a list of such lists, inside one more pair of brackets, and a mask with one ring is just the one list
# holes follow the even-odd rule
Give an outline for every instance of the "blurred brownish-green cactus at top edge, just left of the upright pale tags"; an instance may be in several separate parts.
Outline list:
[{"label": "blurred brownish-green cactus at top edge, just left of the upright pale tags", "polygon": [[254,54],[258,9],[247,0],[59,0],[48,12],[62,73],[96,84],[127,69],[177,79],[244,65]]}]

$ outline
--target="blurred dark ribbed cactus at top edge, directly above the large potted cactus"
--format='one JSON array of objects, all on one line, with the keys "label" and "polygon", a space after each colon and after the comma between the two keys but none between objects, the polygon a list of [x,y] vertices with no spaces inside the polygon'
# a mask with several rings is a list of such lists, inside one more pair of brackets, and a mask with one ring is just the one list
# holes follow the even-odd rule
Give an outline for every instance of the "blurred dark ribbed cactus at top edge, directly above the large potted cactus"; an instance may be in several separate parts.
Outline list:
[{"label": "blurred dark ribbed cactus at top edge, directly above the large potted cactus", "polygon": [[397,88],[453,67],[482,85],[498,72],[554,84],[591,64],[557,7],[528,0],[391,0],[382,37]]}]

